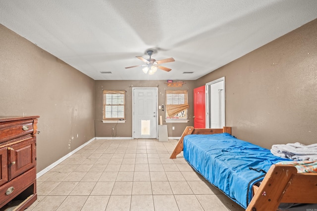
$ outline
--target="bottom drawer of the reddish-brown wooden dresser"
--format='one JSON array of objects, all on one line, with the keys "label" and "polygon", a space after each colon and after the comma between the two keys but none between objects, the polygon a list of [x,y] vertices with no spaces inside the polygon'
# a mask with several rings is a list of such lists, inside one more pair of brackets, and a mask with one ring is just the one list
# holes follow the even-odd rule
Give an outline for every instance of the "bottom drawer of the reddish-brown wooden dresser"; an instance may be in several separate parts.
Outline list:
[{"label": "bottom drawer of the reddish-brown wooden dresser", "polygon": [[11,201],[19,195],[27,187],[29,187],[36,179],[36,168],[30,169],[24,174],[7,182],[0,187],[0,207]]}]

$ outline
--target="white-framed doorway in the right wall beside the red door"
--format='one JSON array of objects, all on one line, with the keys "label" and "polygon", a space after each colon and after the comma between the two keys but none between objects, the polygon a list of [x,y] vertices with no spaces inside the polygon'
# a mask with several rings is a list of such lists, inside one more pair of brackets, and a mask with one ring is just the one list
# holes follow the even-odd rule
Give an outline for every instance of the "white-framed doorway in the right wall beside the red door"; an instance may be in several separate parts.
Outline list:
[{"label": "white-framed doorway in the right wall beside the red door", "polygon": [[225,126],[224,77],[206,84],[206,87],[206,127],[222,128]]}]

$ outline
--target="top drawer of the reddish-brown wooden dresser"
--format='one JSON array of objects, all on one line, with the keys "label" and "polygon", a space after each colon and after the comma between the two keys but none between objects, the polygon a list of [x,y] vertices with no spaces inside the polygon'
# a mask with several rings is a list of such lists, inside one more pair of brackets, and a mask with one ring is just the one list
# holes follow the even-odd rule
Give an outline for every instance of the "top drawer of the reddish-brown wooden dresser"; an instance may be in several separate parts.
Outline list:
[{"label": "top drawer of the reddish-brown wooden dresser", "polygon": [[0,123],[0,143],[33,133],[33,120]]}]

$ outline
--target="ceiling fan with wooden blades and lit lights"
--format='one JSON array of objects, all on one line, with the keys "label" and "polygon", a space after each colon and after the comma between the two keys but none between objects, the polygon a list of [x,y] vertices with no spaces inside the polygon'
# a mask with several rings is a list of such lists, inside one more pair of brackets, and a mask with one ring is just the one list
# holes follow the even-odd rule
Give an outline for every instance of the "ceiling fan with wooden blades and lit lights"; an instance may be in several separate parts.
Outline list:
[{"label": "ceiling fan with wooden blades and lit lights", "polygon": [[142,69],[143,72],[148,73],[148,71],[149,71],[150,75],[153,75],[158,70],[158,68],[161,70],[164,70],[166,72],[169,72],[172,70],[172,69],[169,69],[167,67],[160,66],[159,64],[163,64],[163,63],[167,63],[167,62],[174,62],[175,60],[173,58],[167,58],[167,59],[162,59],[162,60],[157,61],[157,60],[151,58],[151,56],[153,54],[153,50],[148,50],[147,53],[150,56],[150,58],[148,58],[148,59],[145,59],[142,56],[136,56],[138,59],[145,62],[146,65],[135,65],[135,66],[131,66],[131,67],[126,67],[125,69],[142,66],[142,67],[144,67]]}]

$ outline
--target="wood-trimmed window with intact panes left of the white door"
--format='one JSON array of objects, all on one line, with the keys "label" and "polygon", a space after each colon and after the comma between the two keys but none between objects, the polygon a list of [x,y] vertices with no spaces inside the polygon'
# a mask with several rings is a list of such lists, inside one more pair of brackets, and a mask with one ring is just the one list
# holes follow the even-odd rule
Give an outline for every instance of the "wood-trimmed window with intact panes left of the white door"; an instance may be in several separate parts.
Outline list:
[{"label": "wood-trimmed window with intact panes left of the white door", "polygon": [[103,119],[123,120],[125,119],[125,90],[104,90],[103,93]]}]

